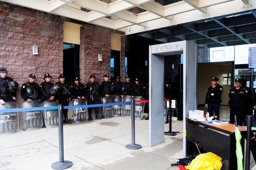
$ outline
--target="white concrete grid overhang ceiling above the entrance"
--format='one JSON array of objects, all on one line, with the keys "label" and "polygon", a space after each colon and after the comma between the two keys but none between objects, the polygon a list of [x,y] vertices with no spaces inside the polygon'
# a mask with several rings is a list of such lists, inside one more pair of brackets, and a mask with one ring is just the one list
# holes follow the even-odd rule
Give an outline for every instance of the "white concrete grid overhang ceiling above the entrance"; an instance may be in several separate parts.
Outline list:
[{"label": "white concrete grid overhang ceiling above the entrance", "polygon": [[134,34],[254,9],[256,0],[0,0]]}]

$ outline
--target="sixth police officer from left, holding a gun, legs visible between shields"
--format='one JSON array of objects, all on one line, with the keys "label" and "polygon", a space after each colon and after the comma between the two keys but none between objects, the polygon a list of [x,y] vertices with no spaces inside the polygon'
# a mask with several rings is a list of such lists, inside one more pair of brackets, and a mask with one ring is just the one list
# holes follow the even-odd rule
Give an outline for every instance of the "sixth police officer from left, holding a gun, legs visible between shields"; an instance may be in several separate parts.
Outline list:
[{"label": "sixth police officer from left, holding a gun, legs visible between shields", "polygon": [[[89,79],[90,82],[87,82],[85,85],[85,91],[86,95],[88,98],[88,105],[94,105],[94,104],[99,104],[100,102],[100,90],[99,90],[99,84],[95,81],[95,76],[90,75]],[[99,108],[94,108],[95,112],[95,119],[102,119],[98,113],[99,113]],[[92,120],[92,108],[88,108],[88,113],[89,113],[89,121]]]}]

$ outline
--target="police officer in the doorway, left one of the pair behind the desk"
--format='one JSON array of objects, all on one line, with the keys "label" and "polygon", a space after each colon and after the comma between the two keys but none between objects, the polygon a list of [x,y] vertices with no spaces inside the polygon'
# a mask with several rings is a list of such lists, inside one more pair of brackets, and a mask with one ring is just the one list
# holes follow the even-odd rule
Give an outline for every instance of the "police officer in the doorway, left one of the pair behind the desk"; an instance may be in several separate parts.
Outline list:
[{"label": "police officer in the doorway, left one of the pair behind the desk", "polygon": [[210,116],[213,116],[213,111],[217,119],[220,118],[220,108],[221,108],[221,93],[223,87],[218,84],[218,78],[212,77],[212,85],[207,89],[205,97],[205,107],[209,112]]}]

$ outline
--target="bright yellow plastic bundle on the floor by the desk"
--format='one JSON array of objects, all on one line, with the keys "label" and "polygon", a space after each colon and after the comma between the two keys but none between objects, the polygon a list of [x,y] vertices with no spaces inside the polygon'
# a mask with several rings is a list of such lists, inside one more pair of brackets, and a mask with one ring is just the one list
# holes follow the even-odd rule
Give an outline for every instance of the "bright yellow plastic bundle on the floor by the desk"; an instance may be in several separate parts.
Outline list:
[{"label": "bright yellow plastic bundle on the floor by the desk", "polygon": [[212,152],[202,153],[196,156],[191,164],[185,167],[187,170],[220,170],[222,159]]}]

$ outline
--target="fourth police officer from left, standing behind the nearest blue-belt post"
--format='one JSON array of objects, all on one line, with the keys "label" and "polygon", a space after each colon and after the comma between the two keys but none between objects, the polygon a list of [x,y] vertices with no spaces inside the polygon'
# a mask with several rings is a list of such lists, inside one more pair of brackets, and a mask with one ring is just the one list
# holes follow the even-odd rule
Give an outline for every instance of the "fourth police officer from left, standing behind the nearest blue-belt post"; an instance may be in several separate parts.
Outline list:
[{"label": "fourth police officer from left, standing behind the nearest blue-belt post", "polygon": [[[63,74],[60,74],[58,77],[59,81],[56,82],[56,85],[60,86],[60,91],[58,93],[58,102],[64,106],[68,106],[68,103],[71,99],[72,94],[70,93],[70,86],[67,84],[67,82],[65,82],[65,77]],[[63,110],[63,114],[64,114],[64,123],[72,123],[67,119],[67,109]]]}]

